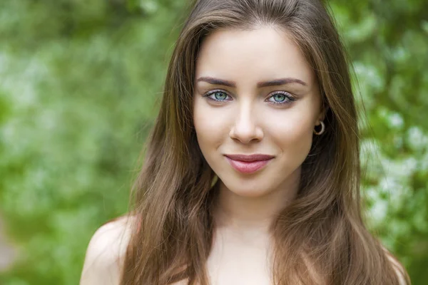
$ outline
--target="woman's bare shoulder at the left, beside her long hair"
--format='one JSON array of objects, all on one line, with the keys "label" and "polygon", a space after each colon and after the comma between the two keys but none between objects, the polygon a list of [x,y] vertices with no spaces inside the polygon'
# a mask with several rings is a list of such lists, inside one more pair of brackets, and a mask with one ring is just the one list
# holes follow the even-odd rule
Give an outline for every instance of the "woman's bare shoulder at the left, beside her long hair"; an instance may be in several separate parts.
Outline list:
[{"label": "woman's bare shoulder at the left, beside her long hair", "polygon": [[96,230],[86,250],[81,285],[118,285],[131,235],[132,217],[119,217]]}]

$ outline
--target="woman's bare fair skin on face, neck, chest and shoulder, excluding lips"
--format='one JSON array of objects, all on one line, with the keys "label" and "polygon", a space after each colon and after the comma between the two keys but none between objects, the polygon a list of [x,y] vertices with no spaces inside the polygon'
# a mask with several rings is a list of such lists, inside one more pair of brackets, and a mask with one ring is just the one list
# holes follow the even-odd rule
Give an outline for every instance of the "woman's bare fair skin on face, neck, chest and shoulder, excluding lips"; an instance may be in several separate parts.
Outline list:
[{"label": "woman's bare fair skin on face, neck, chest and shoulder, excluding lips", "polygon": [[[272,284],[268,229],[295,198],[313,130],[325,116],[315,73],[284,31],[215,31],[198,55],[193,111],[200,150],[220,180],[210,283]],[[274,158],[251,174],[233,169],[224,156],[256,153]],[[119,284],[121,235],[128,235],[121,219],[94,234],[82,285]]]}]

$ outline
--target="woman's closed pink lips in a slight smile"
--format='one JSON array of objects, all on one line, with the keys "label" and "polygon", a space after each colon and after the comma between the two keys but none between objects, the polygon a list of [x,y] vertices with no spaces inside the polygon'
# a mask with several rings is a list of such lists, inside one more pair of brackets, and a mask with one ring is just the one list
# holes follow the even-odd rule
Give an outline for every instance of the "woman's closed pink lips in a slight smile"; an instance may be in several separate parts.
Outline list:
[{"label": "woman's closed pink lips in a slight smile", "polygon": [[256,172],[272,160],[272,155],[225,155],[230,165],[242,173]]}]

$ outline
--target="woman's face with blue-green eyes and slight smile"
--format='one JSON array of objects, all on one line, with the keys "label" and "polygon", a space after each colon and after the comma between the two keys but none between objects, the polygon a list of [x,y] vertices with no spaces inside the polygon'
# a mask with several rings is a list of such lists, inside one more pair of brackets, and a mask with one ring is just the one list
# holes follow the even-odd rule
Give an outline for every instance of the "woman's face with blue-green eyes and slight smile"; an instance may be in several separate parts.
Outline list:
[{"label": "woman's face with blue-green eyes and slight smile", "polygon": [[194,84],[198,144],[228,190],[261,197],[296,185],[322,113],[315,74],[286,33],[211,33]]}]

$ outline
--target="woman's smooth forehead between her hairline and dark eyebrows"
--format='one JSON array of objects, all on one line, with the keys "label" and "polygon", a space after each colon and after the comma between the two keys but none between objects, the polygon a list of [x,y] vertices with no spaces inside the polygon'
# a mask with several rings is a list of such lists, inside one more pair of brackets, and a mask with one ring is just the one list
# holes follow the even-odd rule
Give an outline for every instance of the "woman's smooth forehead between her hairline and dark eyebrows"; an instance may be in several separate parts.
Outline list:
[{"label": "woman's smooth forehead between her hairline and dark eyebrows", "polygon": [[287,33],[263,27],[223,29],[207,36],[198,54],[196,78],[214,76],[239,83],[293,77],[314,83],[315,74]]}]

